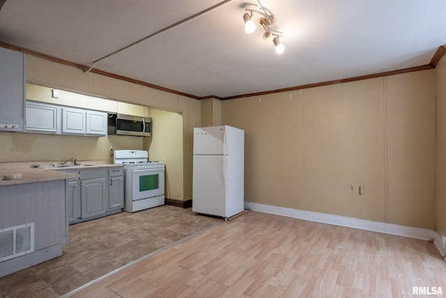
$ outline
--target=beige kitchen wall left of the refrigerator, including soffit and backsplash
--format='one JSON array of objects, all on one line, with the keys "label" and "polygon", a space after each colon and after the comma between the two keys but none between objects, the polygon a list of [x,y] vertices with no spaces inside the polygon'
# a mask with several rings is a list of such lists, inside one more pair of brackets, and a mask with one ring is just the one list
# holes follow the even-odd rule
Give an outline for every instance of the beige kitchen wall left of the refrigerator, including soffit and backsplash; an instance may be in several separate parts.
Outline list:
[{"label": "beige kitchen wall left of the refrigerator, including soffit and backsplash", "polygon": [[[149,111],[153,116],[167,116],[167,113],[163,113],[163,111],[176,113],[171,116],[171,120],[177,125],[181,123],[182,132],[178,132],[178,128],[173,129],[172,127],[166,127],[166,132],[162,132],[164,135],[169,133],[176,136],[183,135],[183,138],[176,139],[174,144],[171,141],[166,141],[172,146],[164,148],[166,152],[169,152],[166,155],[170,157],[166,164],[171,186],[169,194],[178,200],[192,198],[192,135],[193,127],[199,126],[200,123],[200,102],[198,100],[90,72],[84,73],[82,70],[34,56],[26,57],[26,79],[31,84],[59,88],[106,100],[140,104],[161,110]],[[107,109],[109,109],[108,107],[107,105]],[[161,126],[157,126],[155,129],[157,122],[156,119],[154,121],[154,130],[158,132],[157,130]],[[152,158],[152,155],[159,155],[161,151],[159,146],[162,145],[155,141],[155,132],[152,138],[132,136],[98,138],[3,132],[0,134],[0,152],[2,152],[0,162],[60,160],[72,155],[75,155],[77,159],[106,159],[111,162],[112,157],[109,154],[111,145],[115,150],[128,148],[149,150]],[[153,152],[151,152],[152,150]]]}]

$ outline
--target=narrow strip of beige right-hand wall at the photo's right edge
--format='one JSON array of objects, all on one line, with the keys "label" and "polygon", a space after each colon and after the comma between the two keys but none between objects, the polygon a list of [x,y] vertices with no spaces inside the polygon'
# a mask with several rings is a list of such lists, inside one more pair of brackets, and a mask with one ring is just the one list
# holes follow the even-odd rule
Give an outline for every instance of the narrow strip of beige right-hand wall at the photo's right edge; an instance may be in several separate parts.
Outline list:
[{"label": "narrow strip of beige right-hand wall at the photo's right edge", "polygon": [[446,235],[446,57],[436,67],[436,228]]}]

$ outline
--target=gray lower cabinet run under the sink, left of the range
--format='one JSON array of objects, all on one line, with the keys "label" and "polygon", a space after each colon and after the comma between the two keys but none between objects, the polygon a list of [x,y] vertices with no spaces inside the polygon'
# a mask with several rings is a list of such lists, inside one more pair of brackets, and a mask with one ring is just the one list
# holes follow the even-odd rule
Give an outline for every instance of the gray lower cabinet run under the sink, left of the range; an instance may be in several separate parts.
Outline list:
[{"label": "gray lower cabinet run under the sink, left of the range", "polygon": [[69,224],[121,212],[124,206],[122,168],[77,172],[80,178],[66,182],[66,212]]}]

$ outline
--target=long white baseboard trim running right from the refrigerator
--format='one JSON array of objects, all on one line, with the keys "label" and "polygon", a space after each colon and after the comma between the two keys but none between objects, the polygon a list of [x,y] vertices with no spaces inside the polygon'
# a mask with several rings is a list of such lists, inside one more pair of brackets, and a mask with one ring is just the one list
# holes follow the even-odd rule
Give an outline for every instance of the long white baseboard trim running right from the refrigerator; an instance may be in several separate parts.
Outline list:
[{"label": "long white baseboard trim running right from the refrigerator", "polygon": [[245,202],[245,208],[257,212],[281,215],[283,217],[303,219],[306,221],[316,221],[322,224],[332,224],[335,226],[345,226],[347,228],[370,230],[373,232],[409,237],[418,240],[427,240],[435,244],[441,256],[445,257],[446,255],[446,237],[443,237],[442,235],[436,233],[436,231],[429,230],[427,228],[415,228],[410,226],[400,226],[397,224],[385,224],[379,221],[355,219],[353,217],[342,217],[340,215],[298,210],[287,207],[277,207],[252,202]]}]

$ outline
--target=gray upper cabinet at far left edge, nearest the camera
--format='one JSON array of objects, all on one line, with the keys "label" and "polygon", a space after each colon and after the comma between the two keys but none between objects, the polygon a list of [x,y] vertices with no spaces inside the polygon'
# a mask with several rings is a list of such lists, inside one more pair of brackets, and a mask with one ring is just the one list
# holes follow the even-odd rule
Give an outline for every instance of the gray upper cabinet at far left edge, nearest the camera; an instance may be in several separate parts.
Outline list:
[{"label": "gray upper cabinet at far left edge, nearest the camera", "polygon": [[25,55],[0,47],[0,131],[22,132]]}]

